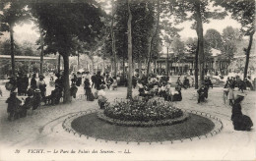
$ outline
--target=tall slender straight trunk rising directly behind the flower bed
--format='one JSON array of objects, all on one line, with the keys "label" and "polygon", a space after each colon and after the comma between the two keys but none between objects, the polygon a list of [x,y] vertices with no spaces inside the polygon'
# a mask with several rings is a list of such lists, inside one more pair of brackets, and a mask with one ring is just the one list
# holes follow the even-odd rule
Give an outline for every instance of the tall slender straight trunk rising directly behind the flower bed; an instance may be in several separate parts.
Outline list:
[{"label": "tall slender straight trunk rising directly behind the flower bed", "polygon": [[129,75],[128,75],[128,87],[127,87],[127,99],[132,99],[132,13],[130,9],[130,0],[128,0],[128,66],[129,66]]}]

